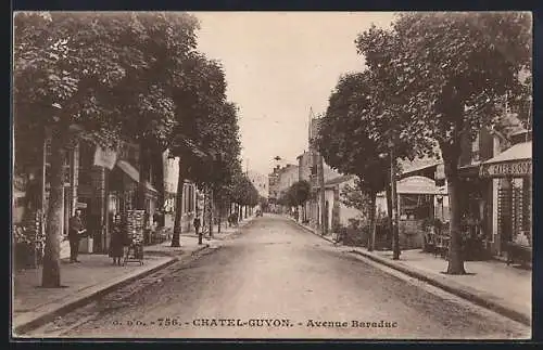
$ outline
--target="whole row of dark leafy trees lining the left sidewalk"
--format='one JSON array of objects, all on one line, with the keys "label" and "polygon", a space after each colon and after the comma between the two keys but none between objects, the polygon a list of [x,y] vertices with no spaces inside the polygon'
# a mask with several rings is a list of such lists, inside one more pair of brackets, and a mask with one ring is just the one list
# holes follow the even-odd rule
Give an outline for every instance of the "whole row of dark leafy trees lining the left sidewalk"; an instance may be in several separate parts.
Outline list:
[{"label": "whole row of dark leafy trees lining the left sidewalk", "polygon": [[[198,28],[186,13],[15,16],[16,164],[31,163],[40,140],[52,140],[45,287],[61,285],[63,166],[77,140],[110,150],[138,142],[140,179],[148,178],[152,155],[169,150],[180,161],[177,208],[185,179],[228,195],[241,177],[238,109],[226,99],[220,64],[197,51]],[[140,181],[138,209],[144,209],[144,191]],[[180,215],[173,246],[179,245]]]}]

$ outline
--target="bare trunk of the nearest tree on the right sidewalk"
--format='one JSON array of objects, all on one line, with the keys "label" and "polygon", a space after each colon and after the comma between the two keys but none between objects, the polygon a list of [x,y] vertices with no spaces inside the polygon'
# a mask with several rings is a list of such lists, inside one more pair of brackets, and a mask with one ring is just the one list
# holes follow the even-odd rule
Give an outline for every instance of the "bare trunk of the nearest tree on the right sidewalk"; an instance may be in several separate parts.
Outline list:
[{"label": "bare trunk of the nearest tree on the right sidewalk", "polygon": [[[458,144],[459,147],[459,144]],[[457,152],[456,154],[459,154]],[[445,176],[449,191],[449,205],[451,209],[451,244],[449,246],[449,274],[465,274],[464,257],[462,255],[462,232],[460,232],[460,186],[458,178],[458,157],[445,157]]]}]

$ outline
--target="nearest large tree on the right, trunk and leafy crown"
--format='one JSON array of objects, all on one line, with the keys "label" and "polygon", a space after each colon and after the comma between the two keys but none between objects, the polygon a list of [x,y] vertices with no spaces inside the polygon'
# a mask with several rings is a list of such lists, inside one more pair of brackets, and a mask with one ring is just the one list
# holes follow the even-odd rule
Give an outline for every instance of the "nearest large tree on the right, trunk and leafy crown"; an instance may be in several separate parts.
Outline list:
[{"label": "nearest large tree on the right, trunk and leafy crown", "polygon": [[[439,144],[451,200],[451,274],[465,273],[459,232],[462,140],[494,124],[501,115],[500,99],[517,90],[520,72],[531,72],[530,28],[530,15],[520,12],[405,13],[391,31],[374,27],[357,38],[366,64],[382,78],[390,95],[402,101],[402,133],[421,134]],[[429,144],[417,147],[433,152]]]}]

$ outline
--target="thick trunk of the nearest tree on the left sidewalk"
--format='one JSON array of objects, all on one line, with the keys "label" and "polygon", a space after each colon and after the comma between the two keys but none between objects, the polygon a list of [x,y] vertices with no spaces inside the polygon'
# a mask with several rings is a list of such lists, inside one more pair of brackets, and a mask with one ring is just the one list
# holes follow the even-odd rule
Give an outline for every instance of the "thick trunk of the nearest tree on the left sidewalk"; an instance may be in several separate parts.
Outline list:
[{"label": "thick trunk of the nearest tree on the left sidewalk", "polygon": [[51,140],[51,192],[49,196],[49,209],[47,212],[46,246],[43,251],[43,271],[41,274],[41,286],[47,288],[61,287],[60,252],[63,234],[63,186],[64,186],[64,161],[66,150],[63,144],[61,132],[52,134]]}]

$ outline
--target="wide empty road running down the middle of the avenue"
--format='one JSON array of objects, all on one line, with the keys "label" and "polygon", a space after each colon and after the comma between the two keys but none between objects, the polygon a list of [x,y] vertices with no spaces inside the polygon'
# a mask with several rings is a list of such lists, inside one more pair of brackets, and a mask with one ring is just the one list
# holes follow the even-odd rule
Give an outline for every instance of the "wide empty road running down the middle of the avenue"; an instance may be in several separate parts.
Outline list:
[{"label": "wide empty road running down the middle of the avenue", "polygon": [[212,254],[143,278],[37,333],[160,338],[530,336],[519,323],[342,252],[289,219],[265,216],[243,231]]}]

